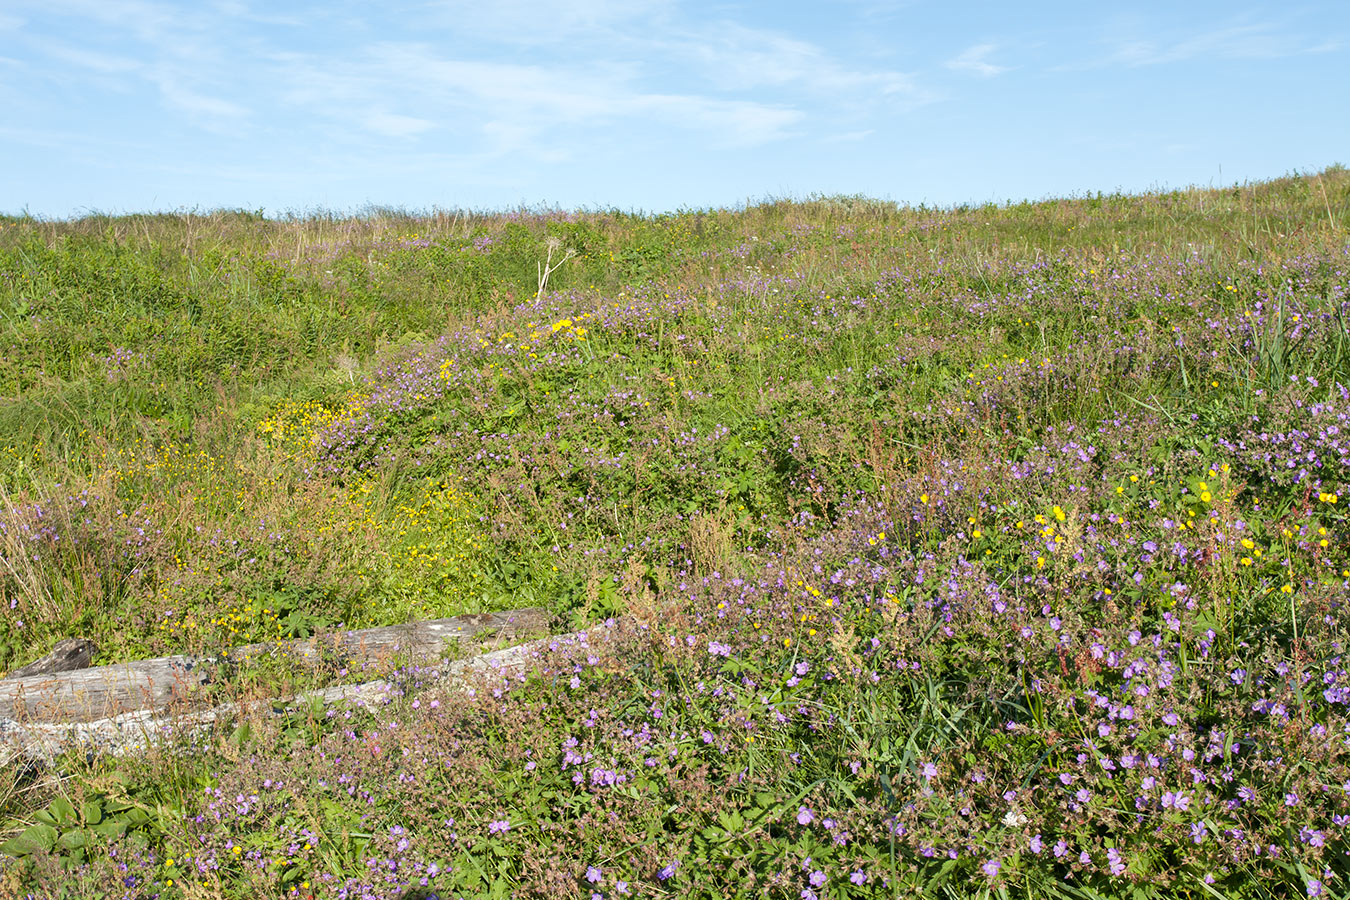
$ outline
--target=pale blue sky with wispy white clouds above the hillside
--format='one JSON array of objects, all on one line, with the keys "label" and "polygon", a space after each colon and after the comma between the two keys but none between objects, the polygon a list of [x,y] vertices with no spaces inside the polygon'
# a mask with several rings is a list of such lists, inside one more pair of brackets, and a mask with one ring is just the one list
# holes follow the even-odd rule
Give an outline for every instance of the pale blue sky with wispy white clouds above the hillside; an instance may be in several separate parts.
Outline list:
[{"label": "pale blue sky with wispy white clouds above the hillside", "polygon": [[0,0],[0,212],[950,205],[1350,165],[1350,4]]}]

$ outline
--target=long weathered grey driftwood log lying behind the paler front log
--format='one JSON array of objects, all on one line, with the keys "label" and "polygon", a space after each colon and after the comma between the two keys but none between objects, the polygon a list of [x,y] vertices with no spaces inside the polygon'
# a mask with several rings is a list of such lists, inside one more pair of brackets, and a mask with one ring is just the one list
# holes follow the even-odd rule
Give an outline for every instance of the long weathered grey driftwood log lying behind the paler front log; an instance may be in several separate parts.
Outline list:
[{"label": "long weathered grey driftwood log lying behind the paler front log", "polygon": [[539,609],[478,613],[448,619],[339,631],[278,644],[251,644],[221,657],[169,656],[66,672],[0,680],[0,719],[26,722],[92,722],[140,710],[190,706],[193,695],[228,667],[278,656],[325,660],[359,668],[394,656],[410,661],[437,657],[451,641],[495,634],[502,641],[543,631],[547,614]]}]

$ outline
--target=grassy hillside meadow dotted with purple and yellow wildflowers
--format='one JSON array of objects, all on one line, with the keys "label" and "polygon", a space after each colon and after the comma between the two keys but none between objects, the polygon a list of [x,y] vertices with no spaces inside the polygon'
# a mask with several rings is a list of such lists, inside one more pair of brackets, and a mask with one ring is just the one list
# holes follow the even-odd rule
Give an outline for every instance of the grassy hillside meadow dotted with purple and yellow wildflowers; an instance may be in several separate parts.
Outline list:
[{"label": "grassy hillside meadow dotted with purple and yellow wildflowers", "polygon": [[9,773],[0,896],[1350,896],[1347,220],[4,220],[0,664],[568,636]]}]

